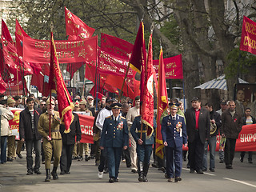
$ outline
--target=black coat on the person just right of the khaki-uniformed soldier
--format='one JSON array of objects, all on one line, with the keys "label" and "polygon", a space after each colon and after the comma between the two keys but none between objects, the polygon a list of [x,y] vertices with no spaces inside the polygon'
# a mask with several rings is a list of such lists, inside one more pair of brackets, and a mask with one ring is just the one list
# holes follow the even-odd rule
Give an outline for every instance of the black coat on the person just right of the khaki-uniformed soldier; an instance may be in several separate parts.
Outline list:
[{"label": "black coat on the person just right of the khaki-uniformed soldier", "polygon": [[62,143],[63,144],[74,145],[75,137],[77,137],[77,142],[79,142],[81,140],[81,127],[80,127],[78,114],[74,114],[74,120],[70,125],[70,133],[64,134],[64,130],[65,130],[65,125],[61,125],[60,132],[62,134]]}]

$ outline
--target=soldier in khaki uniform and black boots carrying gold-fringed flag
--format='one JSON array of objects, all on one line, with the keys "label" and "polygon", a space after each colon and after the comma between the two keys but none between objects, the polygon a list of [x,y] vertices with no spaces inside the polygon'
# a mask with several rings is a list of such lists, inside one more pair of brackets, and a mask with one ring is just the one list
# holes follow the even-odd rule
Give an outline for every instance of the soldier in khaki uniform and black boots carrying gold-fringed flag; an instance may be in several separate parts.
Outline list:
[{"label": "soldier in khaki uniform and black boots carrying gold-fringed flag", "polygon": [[[61,120],[59,118],[58,111],[54,111],[55,103],[50,99],[46,101],[47,110],[46,113],[41,114],[38,122],[38,132],[42,134],[43,143],[42,147],[45,152],[45,166],[46,166],[46,179],[45,182],[50,182],[50,160],[52,157],[52,152],[54,150],[54,169],[51,172],[54,180],[58,179],[57,168],[58,163],[62,154],[62,135],[59,131],[59,125]],[[51,115],[51,118],[49,117]],[[49,118],[50,118],[50,129],[49,129]],[[50,130],[50,133],[49,133]]]}]

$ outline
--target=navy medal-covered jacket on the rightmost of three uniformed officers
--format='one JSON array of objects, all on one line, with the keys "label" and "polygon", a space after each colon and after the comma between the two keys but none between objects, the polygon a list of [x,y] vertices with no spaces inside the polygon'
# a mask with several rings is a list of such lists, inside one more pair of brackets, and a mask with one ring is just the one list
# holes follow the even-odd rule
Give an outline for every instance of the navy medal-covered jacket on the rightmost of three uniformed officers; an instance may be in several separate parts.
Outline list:
[{"label": "navy medal-covered jacket on the rightmost of three uniformed officers", "polygon": [[184,118],[176,114],[175,120],[168,115],[162,119],[162,142],[167,142],[167,147],[182,147],[182,144],[187,143],[186,125]]}]

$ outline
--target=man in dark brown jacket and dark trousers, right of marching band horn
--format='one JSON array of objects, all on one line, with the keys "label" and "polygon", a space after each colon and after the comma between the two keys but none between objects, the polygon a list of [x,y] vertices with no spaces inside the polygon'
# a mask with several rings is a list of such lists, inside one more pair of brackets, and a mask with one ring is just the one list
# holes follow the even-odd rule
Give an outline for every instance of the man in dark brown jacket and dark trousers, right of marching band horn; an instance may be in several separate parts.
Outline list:
[{"label": "man in dark brown jacket and dark trousers, right of marching band horn", "polygon": [[235,102],[230,101],[230,108],[222,113],[222,126],[220,133],[226,138],[224,148],[224,159],[226,169],[233,169],[232,162],[234,158],[235,143],[238,134],[242,130],[242,116],[238,114],[235,108]]}]

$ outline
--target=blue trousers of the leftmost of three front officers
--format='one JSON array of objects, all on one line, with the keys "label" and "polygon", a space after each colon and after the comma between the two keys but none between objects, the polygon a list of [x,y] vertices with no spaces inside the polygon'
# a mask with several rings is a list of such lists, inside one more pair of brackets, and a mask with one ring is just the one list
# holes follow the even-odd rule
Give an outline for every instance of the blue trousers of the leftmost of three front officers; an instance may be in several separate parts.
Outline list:
[{"label": "blue trousers of the leftmost of three front officers", "polygon": [[118,178],[122,147],[107,147],[106,151],[110,178]]}]

